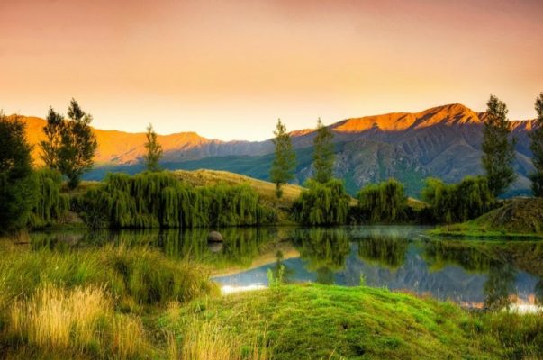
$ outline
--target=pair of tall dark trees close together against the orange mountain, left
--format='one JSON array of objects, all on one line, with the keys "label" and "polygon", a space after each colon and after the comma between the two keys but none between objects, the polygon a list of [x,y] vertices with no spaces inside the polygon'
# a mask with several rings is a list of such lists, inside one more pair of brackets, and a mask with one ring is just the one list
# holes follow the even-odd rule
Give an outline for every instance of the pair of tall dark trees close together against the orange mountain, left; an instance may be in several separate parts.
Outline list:
[{"label": "pair of tall dark trees close together against the orange mountain, left", "polygon": [[50,108],[43,128],[46,139],[40,143],[41,158],[46,166],[66,175],[72,189],[79,184],[81,175],[93,166],[98,143],[90,127],[92,119],[72,99],[68,106],[68,120]]}]

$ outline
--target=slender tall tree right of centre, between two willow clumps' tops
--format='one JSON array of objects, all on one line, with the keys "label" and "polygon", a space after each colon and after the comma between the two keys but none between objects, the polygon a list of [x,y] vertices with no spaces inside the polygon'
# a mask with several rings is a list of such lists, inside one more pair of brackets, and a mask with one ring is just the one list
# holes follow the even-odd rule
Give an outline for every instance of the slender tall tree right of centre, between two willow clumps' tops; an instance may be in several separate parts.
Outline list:
[{"label": "slender tall tree right of centre, between two willow clumps' tops", "polygon": [[331,130],[322,124],[321,118],[317,122],[317,135],[313,139],[313,178],[325,184],[333,177],[334,169],[334,135]]}]

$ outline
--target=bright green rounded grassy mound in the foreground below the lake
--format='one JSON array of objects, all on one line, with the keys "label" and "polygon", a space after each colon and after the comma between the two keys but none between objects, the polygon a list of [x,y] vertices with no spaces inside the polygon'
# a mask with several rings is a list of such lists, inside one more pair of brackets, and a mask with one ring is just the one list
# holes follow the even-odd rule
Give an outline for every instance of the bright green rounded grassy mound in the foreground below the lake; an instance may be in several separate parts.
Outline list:
[{"label": "bright green rounded grassy mound in the foreground below the lake", "polygon": [[[472,314],[451,303],[368,287],[282,285],[192,302],[160,322],[175,334],[177,347],[217,354],[227,352],[220,347],[234,349],[228,358],[543,356],[540,315]],[[195,339],[186,335],[190,330],[201,333]]]}]

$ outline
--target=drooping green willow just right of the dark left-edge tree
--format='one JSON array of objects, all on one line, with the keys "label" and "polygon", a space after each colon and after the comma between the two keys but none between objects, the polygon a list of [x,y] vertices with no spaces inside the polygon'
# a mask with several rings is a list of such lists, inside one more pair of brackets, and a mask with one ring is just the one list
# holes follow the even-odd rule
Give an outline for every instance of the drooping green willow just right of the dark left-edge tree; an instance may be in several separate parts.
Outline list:
[{"label": "drooping green willow just right of the dark left-edge tree", "polygon": [[30,217],[32,228],[57,223],[69,210],[68,194],[60,192],[62,175],[58,171],[43,168],[36,172],[36,180],[38,191]]}]

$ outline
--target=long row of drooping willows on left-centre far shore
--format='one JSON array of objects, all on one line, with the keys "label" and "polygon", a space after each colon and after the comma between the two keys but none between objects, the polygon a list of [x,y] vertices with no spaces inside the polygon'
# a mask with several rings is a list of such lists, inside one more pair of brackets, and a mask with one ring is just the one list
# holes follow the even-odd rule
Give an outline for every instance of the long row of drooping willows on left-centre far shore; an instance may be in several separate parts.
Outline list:
[{"label": "long row of drooping willows on left-centre far shore", "polygon": [[77,199],[77,207],[94,228],[249,226],[276,220],[248,185],[195,188],[167,172],[107,175],[102,186]]}]

